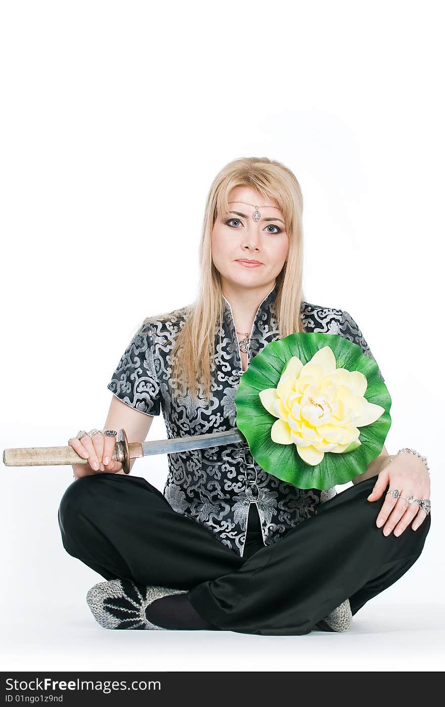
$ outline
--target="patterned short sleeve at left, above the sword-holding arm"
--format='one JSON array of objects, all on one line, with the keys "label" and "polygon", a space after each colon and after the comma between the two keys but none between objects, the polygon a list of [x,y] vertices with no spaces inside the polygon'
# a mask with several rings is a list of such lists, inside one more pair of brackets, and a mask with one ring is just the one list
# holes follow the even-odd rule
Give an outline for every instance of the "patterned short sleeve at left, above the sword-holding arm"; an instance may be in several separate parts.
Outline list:
[{"label": "patterned short sleeve at left, above the sword-holding arm", "polygon": [[155,339],[147,321],[131,339],[107,385],[113,395],[146,415],[160,414],[160,385],[155,370]]}]

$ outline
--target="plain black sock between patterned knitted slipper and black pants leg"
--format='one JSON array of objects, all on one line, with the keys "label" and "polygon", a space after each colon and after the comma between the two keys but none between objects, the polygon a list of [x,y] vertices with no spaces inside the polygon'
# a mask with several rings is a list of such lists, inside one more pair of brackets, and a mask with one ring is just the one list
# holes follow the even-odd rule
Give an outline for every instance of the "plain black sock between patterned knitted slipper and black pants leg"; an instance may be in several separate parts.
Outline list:
[{"label": "plain black sock between patterned knitted slipper and black pants leg", "polygon": [[176,631],[220,631],[218,626],[213,626],[206,619],[203,619],[192,607],[189,599],[184,594],[171,594],[167,597],[160,597],[146,608],[146,618],[162,629],[173,629]]}]

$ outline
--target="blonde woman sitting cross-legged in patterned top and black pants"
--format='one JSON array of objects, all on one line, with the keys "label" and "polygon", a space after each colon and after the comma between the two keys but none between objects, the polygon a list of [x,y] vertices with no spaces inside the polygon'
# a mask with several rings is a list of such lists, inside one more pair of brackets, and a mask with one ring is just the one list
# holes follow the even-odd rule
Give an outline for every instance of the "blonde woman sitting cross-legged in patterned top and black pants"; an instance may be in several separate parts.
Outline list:
[{"label": "blonde woman sitting cross-legged in patterned top and black pants", "polygon": [[348,631],[420,556],[429,472],[414,450],[383,447],[339,494],[280,481],[241,443],[169,454],[163,493],[110,461],[117,429],[143,441],[161,409],[169,438],[234,427],[239,379],[269,341],[341,334],[374,358],[348,312],[304,301],[302,252],[295,175],[267,158],[226,165],[206,203],[196,302],[144,320],[109,382],[105,431],[69,441],[88,464],[73,467],[59,526],[107,580],[87,595],[101,626]]}]

